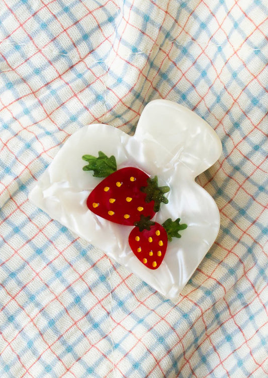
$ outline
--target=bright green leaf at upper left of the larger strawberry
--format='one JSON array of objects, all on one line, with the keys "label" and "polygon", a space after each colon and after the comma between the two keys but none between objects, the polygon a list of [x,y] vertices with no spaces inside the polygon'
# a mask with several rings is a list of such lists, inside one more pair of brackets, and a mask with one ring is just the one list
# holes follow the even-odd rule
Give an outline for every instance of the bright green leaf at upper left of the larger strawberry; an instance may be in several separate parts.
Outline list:
[{"label": "bright green leaf at upper left of the larger strawberry", "polygon": [[116,159],[112,155],[108,157],[102,151],[99,151],[99,156],[83,155],[82,159],[87,161],[87,165],[83,166],[83,170],[93,170],[94,177],[107,177],[117,170]]}]

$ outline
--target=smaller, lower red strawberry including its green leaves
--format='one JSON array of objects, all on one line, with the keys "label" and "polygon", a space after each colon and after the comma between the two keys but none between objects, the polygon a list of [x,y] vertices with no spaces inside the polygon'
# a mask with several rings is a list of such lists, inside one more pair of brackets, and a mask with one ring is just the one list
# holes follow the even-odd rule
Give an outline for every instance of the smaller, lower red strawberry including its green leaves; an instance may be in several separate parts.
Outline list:
[{"label": "smaller, lower red strawberry including its green leaves", "polygon": [[157,269],[163,261],[167,240],[180,238],[178,231],[185,230],[186,224],[180,224],[180,218],[167,219],[162,225],[141,217],[136,227],[129,234],[129,245],[135,256],[149,269]]}]

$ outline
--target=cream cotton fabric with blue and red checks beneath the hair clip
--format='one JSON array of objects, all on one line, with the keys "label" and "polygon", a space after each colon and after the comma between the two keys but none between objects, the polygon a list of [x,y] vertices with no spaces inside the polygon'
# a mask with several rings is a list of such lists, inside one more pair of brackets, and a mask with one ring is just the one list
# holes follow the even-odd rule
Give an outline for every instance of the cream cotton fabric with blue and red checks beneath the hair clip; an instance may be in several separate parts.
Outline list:
[{"label": "cream cotton fabric with blue and red checks beneath the hair clip", "polygon": [[[2,0],[1,378],[268,376],[265,0]],[[64,141],[154,99],[223,145],[219,235],[177,301],[28,201]],[[168,127],[168,125],[163,125]]]}]

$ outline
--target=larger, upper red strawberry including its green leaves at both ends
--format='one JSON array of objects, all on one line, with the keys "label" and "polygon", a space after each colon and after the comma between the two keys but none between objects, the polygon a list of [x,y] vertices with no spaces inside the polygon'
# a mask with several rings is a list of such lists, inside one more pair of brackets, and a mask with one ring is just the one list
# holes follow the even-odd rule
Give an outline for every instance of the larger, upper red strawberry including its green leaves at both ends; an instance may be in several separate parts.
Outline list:
[{"label": "larger, upper red strawberry including its green leaves at both ends", "polygon": [[164,193],[168,186],[158,187],[157,176],[135,167],[119,170],[114,156],[107,157],[99,152],[99,157],[84,155],[88,162],[83,170],[93,170],[95,177],[106,177],[87,198],[87,207],[93,213],[111,222],[133,226],[141,215],[151,219],[159,211],[160,203],[167,203]]}]

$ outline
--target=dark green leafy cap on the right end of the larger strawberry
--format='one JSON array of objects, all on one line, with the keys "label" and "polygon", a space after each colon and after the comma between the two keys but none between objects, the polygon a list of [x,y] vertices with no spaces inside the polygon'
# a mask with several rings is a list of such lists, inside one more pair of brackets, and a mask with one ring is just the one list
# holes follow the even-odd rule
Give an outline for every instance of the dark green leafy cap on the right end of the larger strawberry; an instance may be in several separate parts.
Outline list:
[{"label": "dark green leafy cap on the right end of the larger strawberry", "polygon": [[154,176],[154,178],[148,178],[147,182],[148,185],[142,186],[140,190],[141,192],[146,193],[146,202],[154,201],[153,211],[157,213],[160,209],[161,202],[164,204],[168,203],[168,200],[164,197],[164,194],[169,192],[170,189],[168,186],[159,187],[157,176]]}]

